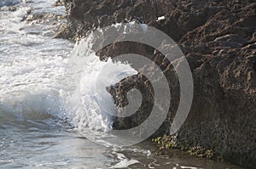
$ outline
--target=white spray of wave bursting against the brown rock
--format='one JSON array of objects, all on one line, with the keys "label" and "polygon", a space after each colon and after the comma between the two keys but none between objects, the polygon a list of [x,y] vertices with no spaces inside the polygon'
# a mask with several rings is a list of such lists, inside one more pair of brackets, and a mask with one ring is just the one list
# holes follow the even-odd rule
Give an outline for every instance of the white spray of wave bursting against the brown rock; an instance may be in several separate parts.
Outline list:
[{"label": "white spray of wave bursting against the brown rock", "polygon": [[[66,87],[64,90],[69,92],[64,98],[68,117],[75,127],[81,131],[84,128],[90,128],[108,132],[112,129],[114,118],[112,115],[108,115],[106,110],[102,110],[97,100],[106,98],[105,104],[108,110],[116,111],[113,100],[108,100],[110,94],[106,87],[119,82],[126,76],[137,74],[137,71],[130,65],[113,62],[112,59],[108,59],[106,62],[101,61],[91,50],[93,40],[94,37],[86,37],[76,43],[69,61],[66,80],[63,82]],[[96,78],[106,65],[108,65],[108,71],[101,79],[102,90],[96,91]],[[119,76],[109,78],[116,73]]]}]

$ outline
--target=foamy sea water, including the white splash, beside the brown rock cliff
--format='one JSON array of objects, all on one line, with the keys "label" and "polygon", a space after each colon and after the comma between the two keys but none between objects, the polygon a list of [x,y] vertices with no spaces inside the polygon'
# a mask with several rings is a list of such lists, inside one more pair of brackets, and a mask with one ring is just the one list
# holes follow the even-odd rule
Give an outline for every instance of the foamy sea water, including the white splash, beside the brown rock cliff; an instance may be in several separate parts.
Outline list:
[{"label": "foamy sea water, including the white splash, beside the brown rock cliff", "polygon": [[[118,148],[86,138],[112,129],[112,117],[95,99],[107,93],[94,90],[112,60],[99,61],[89,49],[91,37],[76,43],[52,38],[66,21],[65,8],[53,3],[0,2],[0,168],[240,168],[179,151],[154,155],[147,141]],[[81,67],[79,55],[85,57],[77,82],[78,69],[70,65]],[[107,75],[123,73],[111,82],[103,78],[107,84],[137,73],[130,65],[110,65]]]}]

